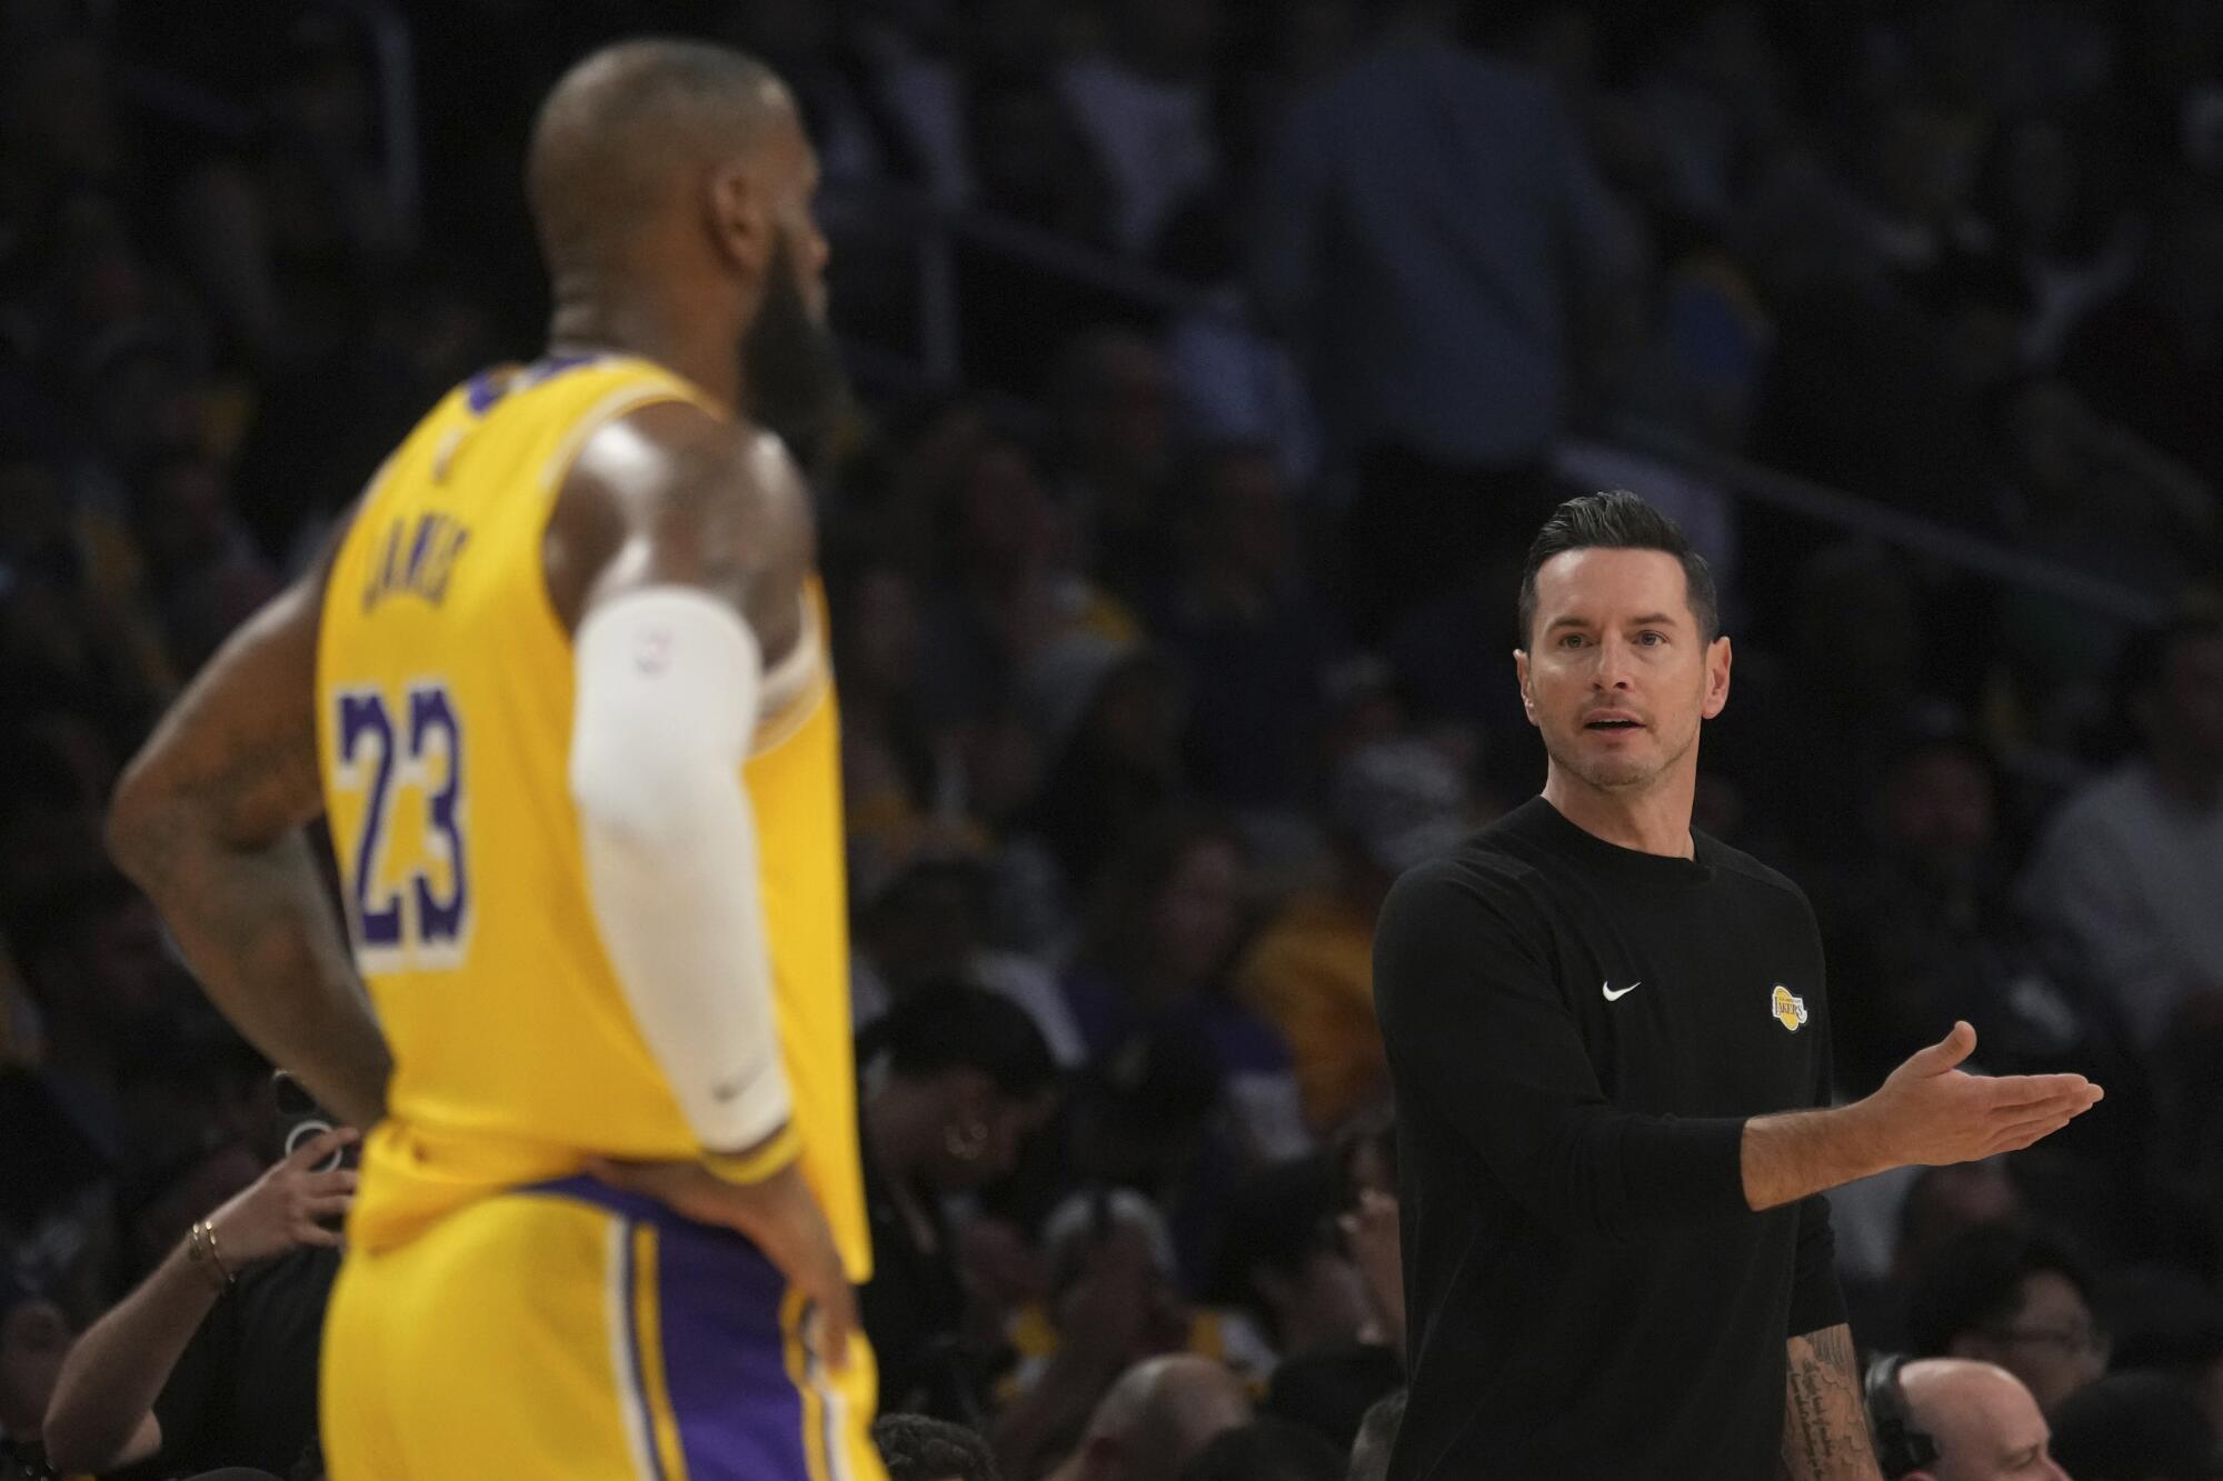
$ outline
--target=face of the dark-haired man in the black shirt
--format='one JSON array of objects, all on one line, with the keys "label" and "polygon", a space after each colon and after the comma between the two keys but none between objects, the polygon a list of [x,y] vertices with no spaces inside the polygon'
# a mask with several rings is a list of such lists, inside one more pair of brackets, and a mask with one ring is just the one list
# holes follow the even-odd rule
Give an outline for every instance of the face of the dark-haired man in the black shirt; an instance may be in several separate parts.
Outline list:
[{"label": "face of the dark-haired man in the black shirt", "polygon": [[1656,549],[1569,549],[1536,571],[1514,652],[1521,703],[1552,763],[1592,787],[1696,767],[1698,720],[1729,700],[1729,640],[1705,640],[1683,563]]}]

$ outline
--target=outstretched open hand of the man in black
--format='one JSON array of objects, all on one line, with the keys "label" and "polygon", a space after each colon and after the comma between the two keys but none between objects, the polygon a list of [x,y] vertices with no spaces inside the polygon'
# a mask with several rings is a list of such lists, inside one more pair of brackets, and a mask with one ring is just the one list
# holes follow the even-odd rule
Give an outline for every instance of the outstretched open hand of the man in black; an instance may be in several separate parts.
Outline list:
[{"label": "outstretched open hand of the man in black", "polygon": [[2081,1074],[1967,1074],[1958,1065],[1974,1050],[1976,1030],[1954,1023],[1870,1096],[1894,1161],[1943,1167],[2021,1152],[2092,1110],[2103,1094]]}]

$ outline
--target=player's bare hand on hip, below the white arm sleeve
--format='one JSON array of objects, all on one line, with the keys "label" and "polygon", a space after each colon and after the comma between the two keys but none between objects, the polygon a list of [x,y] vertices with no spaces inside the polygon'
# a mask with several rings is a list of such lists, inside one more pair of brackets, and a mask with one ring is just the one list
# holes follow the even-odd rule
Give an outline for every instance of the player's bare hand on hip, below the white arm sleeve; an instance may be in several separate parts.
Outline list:
[{"label": "player's bare hand on hip, below the white arm sleeve", "polygon": [[796,1163],[760,1183],[729,1183],[702,1163],[596,1161],[587,1170],[611,1187],[656,1199],[682,1219],[745,1234],[809,1301],[814,1319],[805,1325],[805,1343],[834,1372],[849,1365],[856,1290],[825,1210]]}]

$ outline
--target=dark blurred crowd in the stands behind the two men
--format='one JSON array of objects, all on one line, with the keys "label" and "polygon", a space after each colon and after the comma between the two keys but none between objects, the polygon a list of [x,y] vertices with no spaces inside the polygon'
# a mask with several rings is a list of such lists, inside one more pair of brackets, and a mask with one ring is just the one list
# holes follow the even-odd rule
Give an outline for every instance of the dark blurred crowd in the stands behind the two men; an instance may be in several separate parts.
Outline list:
[{"label": "dark blurred crowd in the stands behind the two men", "polygon": [[[225,11],[0,0],[0,1477],[122,1454],[73,1341],[287,1187],[269,1067],[104,865],[116,772],[416,416],[536,354],[531,107],[638,31],[794,82],[851,345],[958,309],[954,382],[860,356],[798,447],[907,1474],[1380,1474],[1372,921],[1541,783],[1518,560],[1614,485],[1721,580],[1698,825],[1812,894],[1838,1094],[1954,1018],[2107,1085],[1843,1190],[1856,1336],[2005,1368],[2076,1477],[2216,1474],[2223,9],[447,0],[396,7],[407,118],[362,11]],[[929,289],[947,220],[1007,231]],[[289,1281],[136,1399],[131,1474],[318,1474],[329,1270]]]}]

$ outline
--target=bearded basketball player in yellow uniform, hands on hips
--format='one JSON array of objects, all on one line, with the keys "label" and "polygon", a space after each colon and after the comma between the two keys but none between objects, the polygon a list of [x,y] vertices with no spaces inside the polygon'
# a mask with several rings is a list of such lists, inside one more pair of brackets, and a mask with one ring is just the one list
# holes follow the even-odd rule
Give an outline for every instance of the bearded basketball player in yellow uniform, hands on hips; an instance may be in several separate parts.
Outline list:
[{"label": "bearded basketball player in yellow uniform, hands on hips", "polygon": [[578,64],[547,356],[409,434],[118,789],[216,1003],[373,1127],[336,1481],[883,1474],[811,514],[749,418],[834,385],[816,173],[754,60]]}]

